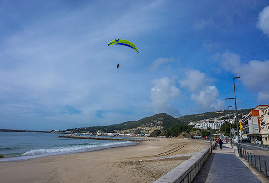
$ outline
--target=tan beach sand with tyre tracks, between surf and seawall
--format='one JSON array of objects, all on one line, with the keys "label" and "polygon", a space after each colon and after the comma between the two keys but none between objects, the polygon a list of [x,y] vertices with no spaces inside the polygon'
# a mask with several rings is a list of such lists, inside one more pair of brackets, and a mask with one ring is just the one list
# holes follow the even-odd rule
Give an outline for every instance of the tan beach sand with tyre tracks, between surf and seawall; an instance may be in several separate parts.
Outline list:
[{"label": "tan beach sand with tyre tracks, between surf and seawall", "polygon": [[135,146],[1,162],[2,183],[152,183],[210,145],[160,139]]}]

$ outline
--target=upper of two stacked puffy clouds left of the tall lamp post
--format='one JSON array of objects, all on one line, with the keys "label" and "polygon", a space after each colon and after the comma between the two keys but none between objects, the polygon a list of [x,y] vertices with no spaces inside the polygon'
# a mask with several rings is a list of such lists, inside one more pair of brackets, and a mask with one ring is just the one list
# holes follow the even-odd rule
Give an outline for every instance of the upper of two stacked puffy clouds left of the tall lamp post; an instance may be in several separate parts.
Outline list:
[{"label": "upper of two stacked puffy clouds left of the tall lamp post", "polygon": [[191,69],[185,72],[185,78],[179,80],[179,83],[181,87],[186,87],[190,91],[194,92],[201,89],[207,81],[208,79],[204,73]]}]

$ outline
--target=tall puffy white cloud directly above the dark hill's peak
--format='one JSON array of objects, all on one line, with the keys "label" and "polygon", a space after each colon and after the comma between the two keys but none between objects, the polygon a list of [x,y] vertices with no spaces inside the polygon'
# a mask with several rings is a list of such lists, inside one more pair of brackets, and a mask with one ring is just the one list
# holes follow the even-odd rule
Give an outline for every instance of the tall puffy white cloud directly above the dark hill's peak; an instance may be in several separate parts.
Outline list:
[{"label": "tall puffy white cloud directly above the dark hill's peak", "polygon": [[180,116],[180,112],[169,103],[170,99],[176,99],[180,96],[181,91],[174,85],[169,78],[163,77],[152,81],[154,87],[150,90],[150,99],[152,100],[151,108],[154,113],[168,113],[174,117]]}]

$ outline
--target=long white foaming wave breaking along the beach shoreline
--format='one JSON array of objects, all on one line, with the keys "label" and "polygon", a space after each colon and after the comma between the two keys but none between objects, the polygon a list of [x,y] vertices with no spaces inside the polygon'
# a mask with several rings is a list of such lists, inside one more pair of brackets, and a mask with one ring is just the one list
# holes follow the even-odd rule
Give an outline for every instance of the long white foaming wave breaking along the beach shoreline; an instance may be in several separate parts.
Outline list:
[{"label": "long white foaming wave breaking along the beach shoreline", "polygon": [[34,155],[42,155],[42,154],[53,154],[53,153],[68,153],[71,151],[82,151],[85,149],[92,149],[95,147],[105,147],[111,145],[119,145],[119,144],[126,144],[130,141],[125,142],[112,142],[112,143],[102,143],[102,144],[91,144],[91,145],[72,145],[72,146],[65,146],[65,147],[55,147],[51,149],[38,149],[38,150],[31,150],[22,154],[23,156],[34,156]]}]

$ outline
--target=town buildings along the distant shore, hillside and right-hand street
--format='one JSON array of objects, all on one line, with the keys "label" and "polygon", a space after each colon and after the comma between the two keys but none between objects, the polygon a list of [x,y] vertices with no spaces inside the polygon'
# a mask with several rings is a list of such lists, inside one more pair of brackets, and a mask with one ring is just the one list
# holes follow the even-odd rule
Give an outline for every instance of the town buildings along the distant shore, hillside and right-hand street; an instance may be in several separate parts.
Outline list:
[{"label": "town buildings along the distant shore, hillside and right-hand street", "polygon": [[[238,128],[240,141],[246,141],[256,144],[269,145],[269,105],[258,105],[253,110],[247,114],[239,114],[241,117],[238,119]],[[233,124],[236,121],[236,114],[230,113],[225,114],[219,117],[213,117],[209,119],[203,119],[196,122],[190,122],[188,125],[193,125],[193,128],[206,130],[206,129],[215,129],[220,130],[222,125]],[[230,125],[227,125],[227,129],[231,131]],[[228,130],[227,130],[228,131]],[[54,130],[50,133],[63,133],[63,131]],[[74,134],[71,131],[65,131],[67,134]],[[150,137],[150,134],[141,134],[141,133],[112,133],[112,132],[102,132],[97,131],[97,133],[81,133],[82,135],[96,135],[96,136],[125,136],[125,137],[141,137],[146,136]],[[165,138],[166,136],[158,136]],[[233,131],[233,141],[238,142],[237,129]],[[174,137],[173,137],[174,138]],[[229,138],[227,135],[226,138]]]}]

